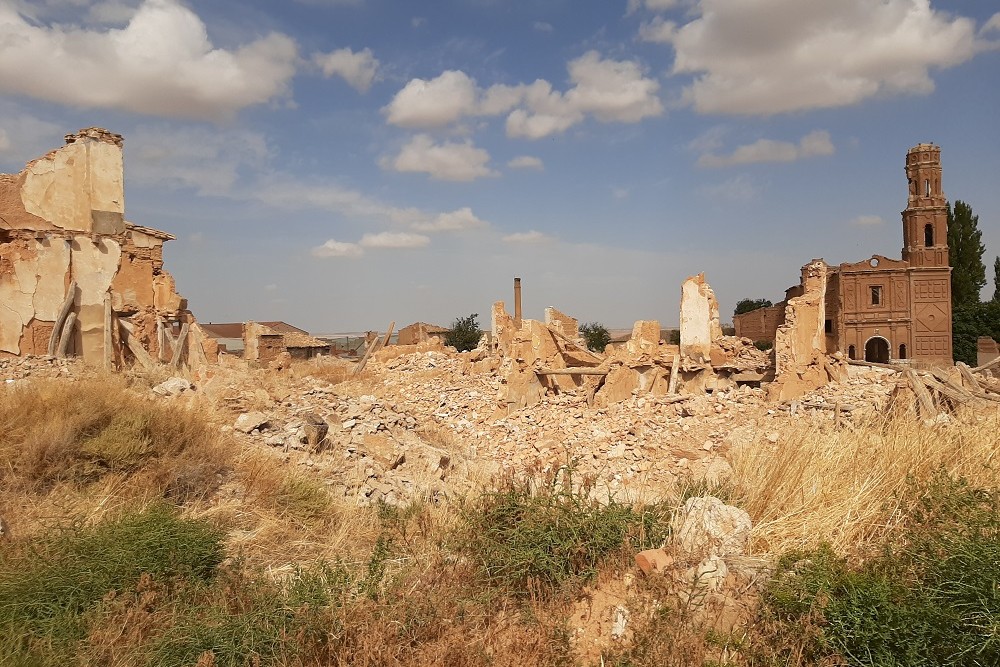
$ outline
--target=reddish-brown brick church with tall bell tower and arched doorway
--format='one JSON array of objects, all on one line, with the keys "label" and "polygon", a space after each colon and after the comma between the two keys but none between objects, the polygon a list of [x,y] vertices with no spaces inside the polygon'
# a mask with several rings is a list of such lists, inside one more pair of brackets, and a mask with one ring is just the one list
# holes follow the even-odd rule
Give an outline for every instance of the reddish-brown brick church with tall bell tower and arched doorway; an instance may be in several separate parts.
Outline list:
[{"label": "reddish-brown brick church with tall bell tower and arched doorway", "polygon": [[[788,305],[805,292],[806,274],[825,272],[822,345],[850,359],[952,363],[951,268],[941,149],[919,144],[906,154],[909,198],[902,259],[873,255],[837,267],[813,260],[785,301],[734,318],[737,336],[775,340]],[[822,264],[822,267],[818,266]]]}]

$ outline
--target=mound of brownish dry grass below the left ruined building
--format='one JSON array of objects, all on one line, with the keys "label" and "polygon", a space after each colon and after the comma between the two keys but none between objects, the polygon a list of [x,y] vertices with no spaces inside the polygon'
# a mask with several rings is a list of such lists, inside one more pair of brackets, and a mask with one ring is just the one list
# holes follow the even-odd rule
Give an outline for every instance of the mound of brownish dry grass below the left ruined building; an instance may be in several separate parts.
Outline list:
[{"label": "mound of brownish dry grass below the left ruined building", "polygon": [[115,377],[33,381],[0,391],[0,485],[44,493],[109,474],[184,501],[218,485],[229,454],[198,413],[130,391]]}]

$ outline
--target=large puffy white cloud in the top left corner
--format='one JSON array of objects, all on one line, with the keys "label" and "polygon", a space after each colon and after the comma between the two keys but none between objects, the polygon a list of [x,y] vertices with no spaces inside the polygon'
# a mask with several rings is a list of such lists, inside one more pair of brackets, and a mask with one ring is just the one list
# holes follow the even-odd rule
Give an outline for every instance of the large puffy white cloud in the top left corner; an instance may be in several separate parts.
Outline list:
[{"label": "large puffy white cloud in the top left corner", "polygon": [[124,28],[36,25],[0,5],[0,92],[157,116],[225,118],[287,96],[297,47],[271,33],[215,48],[178,0],[145,0]]}]

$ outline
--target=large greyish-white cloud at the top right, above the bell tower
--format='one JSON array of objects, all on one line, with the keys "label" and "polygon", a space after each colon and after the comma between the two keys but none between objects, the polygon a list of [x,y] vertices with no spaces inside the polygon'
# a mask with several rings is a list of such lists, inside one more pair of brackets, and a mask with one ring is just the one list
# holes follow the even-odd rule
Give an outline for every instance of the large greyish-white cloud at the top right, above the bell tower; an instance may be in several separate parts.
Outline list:
[{"label": "large greyish-white cloud at the top right, above the bell tower", "polygon": [[700,0],[672,38],[673,72],[703,113],[767,115],[934,89],[929,70],[972,58],[975,22],[929,0]]}]

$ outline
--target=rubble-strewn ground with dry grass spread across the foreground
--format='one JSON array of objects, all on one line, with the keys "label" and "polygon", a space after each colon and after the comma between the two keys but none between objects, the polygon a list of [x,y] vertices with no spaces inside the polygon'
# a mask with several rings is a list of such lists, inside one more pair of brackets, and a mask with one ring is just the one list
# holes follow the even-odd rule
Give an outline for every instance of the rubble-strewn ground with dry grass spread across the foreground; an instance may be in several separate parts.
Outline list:
[{"label": "rubble-strewn ground with dry grass spread across the foreground", "polygon": [[[850,366],[787,404],[737,387],[598,407],[584,386],[509,413],[500,375],[470,355],[352,370],[230,362],[178,379],[0,360],[0,598],[20,590],[5,563],[63,544],[38,541],[52,529],[127,523],[164,500],[222,531],[228,554],[197,585],[95,593],[40,652],[3,646],[53,664],[815,664],[757,615],[777,556],[827,542],[863,560],[936,471],[996,485],[995,407],[893,416],[892,370]],[[706,494],[752,521],[739,552],[703,558],[668,537]],[[665,569],[636,569],[659,546]]]}]

